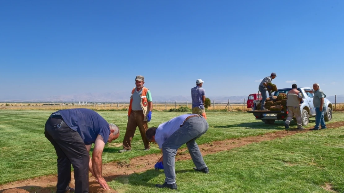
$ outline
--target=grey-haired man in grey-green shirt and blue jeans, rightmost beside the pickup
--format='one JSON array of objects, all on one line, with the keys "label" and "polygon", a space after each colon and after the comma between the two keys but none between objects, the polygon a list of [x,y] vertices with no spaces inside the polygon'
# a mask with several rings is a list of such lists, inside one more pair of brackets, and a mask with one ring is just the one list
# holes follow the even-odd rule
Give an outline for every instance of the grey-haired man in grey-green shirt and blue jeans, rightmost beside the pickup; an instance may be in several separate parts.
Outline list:
[{"label": "grey-haired man in grey-green shirt and blue jeans, rightmost beside the pickup", "polygon": [[306,93],[314,93],[313,105],[315,108],[315,126],[310,130],[319,130],[319,125],[321,125],[321,129],[326,129],[327,127],[324,120],[324,113],[326,110],[324,92],[320,89],[318,83],[313,84],[313,89],[314,91],[305,91]]}]

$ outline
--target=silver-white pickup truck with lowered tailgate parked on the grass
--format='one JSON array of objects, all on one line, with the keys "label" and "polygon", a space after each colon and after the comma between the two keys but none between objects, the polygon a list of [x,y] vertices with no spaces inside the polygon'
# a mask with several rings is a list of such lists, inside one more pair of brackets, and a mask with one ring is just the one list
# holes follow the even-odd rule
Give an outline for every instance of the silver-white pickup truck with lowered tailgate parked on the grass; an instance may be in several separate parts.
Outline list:
[{"label": "silver-white pickup truck with lowered tailgate parked on the grass", "polygon": [[[280,93],[288,94],[288,92],[292,88],[282,88],[278,89],[275,93],[273,93],[274,96],[278,96]],[[309,118],[315,117],[315,107],[313,106],[313,94],[312,93],[306,93],[305,91],[312,91],[313,88],[310,87],[300,87],[298,88],[298,91],[301,92],[303,103],[300,106],[301,109],[301,117],[302,117],[302,125],[308,125]],[[326,97],[326,95],[325,95]],[[256,104],[260,102],[260,100],[255,101]],[[325,121],[331,121],[332,119],[332,103],[324,98],[324,102],[326,104],[326,111],[324,115]],[[256,117],[256,119],[260,119],[266,124],[273,124],[275,123],[275,120],[283,120],[285,121],[288,116],[288,111],[260,111],[260,110],[253,110],[248,111],[250,113],[253,113],[253,115]],[[294,118],[294,121],[295,118]]]}]

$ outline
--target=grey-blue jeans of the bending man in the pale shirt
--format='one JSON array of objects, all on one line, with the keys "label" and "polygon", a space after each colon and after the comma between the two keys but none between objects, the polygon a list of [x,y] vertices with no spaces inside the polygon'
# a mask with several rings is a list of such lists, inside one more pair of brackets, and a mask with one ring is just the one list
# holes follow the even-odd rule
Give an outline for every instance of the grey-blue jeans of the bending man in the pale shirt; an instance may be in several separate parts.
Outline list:
[{"label": "grey-blue jeans of the bending man in the pale shirt", "polygon": [[207,166],[195,140],[203,135],[208,127],[207,121],[202,116],[191,117],[162,144],[165,182],[175,183],[175,155],[178,148],[185,143],[196,168],[203,169]]}]

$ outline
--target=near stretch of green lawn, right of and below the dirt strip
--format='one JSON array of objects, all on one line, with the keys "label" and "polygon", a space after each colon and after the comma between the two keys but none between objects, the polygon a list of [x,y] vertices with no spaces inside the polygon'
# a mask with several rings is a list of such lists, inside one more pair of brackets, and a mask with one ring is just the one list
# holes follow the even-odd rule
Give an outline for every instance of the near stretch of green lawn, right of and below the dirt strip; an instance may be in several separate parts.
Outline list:
[{"label": "near stretch of green lawn, right of and below the dirt strip", "polygon": [[[343,192],[343,133],[344,127],[299,133],[207,155],[208,174],[193,171],[191,160],[178,161],[177,192]],[[151,169],[109,184],[118,192],[173,192],[155,188],[164,178]]]}]

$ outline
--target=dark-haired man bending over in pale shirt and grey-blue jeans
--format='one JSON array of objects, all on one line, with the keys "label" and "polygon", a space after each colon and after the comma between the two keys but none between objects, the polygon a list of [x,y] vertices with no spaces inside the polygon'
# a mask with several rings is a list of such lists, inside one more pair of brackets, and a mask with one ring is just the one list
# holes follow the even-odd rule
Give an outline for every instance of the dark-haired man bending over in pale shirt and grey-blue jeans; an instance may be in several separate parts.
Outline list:
[{"label": "dark-haired man bending over in pale shirt and grey-blue jeans", "polygon": [[164,169],[165,182],[156,184],[158,188],[177,189],[175,182],[174,161],[177,150],[186,143],[194,170],[208,173],[201,151],[195,140],[208,130],[208,123],[199,114],[183,114],[146,131],[148,141],[156,142],[162,151],[162,157],[155,164],[155,169]]}]

